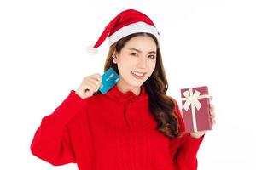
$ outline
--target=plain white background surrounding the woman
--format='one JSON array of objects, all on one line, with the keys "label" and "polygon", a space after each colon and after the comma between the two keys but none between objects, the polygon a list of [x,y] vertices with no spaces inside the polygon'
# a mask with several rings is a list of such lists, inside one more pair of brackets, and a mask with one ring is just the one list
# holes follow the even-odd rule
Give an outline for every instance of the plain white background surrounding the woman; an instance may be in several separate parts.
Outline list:
[{"label": "plain white background surrounding the woman", "polygon": [[96,56],[85,48],[127,8],[160,31],[168,94],[181,104],[180,88],[207,85],[213,96],[198,169],[256,169],[256,5],[246,0],[1,1],[0,169],[77,169],[32,156],[32,137],[83,77],[103,73],[108,40]]}]

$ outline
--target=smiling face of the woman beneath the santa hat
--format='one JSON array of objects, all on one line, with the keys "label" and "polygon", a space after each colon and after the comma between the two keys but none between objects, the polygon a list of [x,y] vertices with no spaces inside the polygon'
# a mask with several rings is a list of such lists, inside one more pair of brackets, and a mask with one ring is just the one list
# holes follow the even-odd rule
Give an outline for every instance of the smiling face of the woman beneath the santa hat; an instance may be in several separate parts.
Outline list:
[{"label": "smiling face of the woman beneath the santa hat", "polygon": [[154,39],[148,36],[132,37],[125,43],[116,54],[121,88],[140,88],[151,76],[156,63],[156,48]]}]

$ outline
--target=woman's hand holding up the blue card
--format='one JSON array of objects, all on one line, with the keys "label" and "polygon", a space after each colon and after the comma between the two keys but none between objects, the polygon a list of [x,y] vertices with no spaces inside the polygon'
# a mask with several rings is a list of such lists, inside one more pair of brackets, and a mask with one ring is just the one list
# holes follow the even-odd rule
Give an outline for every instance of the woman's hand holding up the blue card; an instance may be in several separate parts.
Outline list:
[{"label": "woman's hand holding up the blue card", "polygon": [[84,77],[79,88],[76,90],[76,94],[78,94],[82,99],[86,99],[96,93],[101,87],[101,84],[102,76],[100,74],[93,74]]}]

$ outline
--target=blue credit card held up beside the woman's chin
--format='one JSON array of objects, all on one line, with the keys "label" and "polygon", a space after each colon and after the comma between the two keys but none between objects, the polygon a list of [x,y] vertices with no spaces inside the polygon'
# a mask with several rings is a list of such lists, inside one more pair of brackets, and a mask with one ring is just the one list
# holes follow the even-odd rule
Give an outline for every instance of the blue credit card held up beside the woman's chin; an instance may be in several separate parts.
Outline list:
[{"label": "blue credit card held up beside the woman's chin", "polygon": [[119,75],[110,67],[108,71],[102,75],[102,85],[99,90],[102,94],[106,94],[110,88],[113,88],[113,86],[119,82],[119,80]]}]

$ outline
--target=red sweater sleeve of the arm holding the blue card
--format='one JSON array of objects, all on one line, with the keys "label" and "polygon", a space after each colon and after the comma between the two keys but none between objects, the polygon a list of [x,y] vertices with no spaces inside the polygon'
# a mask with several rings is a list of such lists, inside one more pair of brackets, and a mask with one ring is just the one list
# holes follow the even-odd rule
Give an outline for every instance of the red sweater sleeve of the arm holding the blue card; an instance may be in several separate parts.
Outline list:
[{"label": "red sweater sleeve of the arm holding the blue card", "polygon": [[84,99],[71,90],[52,114],[43,117],[32,139],[32,154],[52,165],[75,163],[67,122],[81,111],[83,106]]}]

